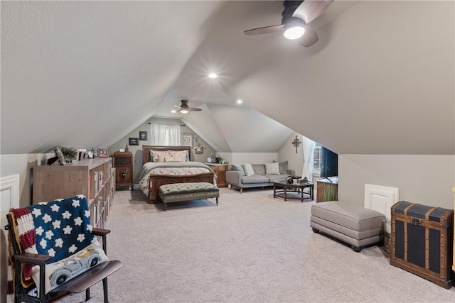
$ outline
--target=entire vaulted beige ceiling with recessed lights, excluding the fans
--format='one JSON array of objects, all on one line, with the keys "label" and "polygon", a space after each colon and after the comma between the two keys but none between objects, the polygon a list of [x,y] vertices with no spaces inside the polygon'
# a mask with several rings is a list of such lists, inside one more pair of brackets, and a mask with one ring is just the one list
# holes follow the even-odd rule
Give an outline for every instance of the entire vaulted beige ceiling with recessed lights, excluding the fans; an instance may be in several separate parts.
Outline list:
[{"label": "entire vaulted beige ceiling with recessed lights, excluding the fans", "polygon": [[[336,153],[454,155],[454,4],[336,0],[304,48],[243,34],[282,1],[1,1],[0,151],[110,146],[160,116],[223,152],[296,131]],[[172,114],[181,99],[203,111]]]}]

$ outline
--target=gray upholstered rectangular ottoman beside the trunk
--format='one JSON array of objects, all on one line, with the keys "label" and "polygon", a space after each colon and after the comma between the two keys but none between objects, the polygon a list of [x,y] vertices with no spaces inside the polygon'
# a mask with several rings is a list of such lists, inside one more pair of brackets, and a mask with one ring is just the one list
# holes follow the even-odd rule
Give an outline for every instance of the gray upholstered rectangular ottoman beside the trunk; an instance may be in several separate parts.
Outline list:
[{"label": "gray upholstered rectangular ottoman beside the trunk", "polygon": [[373,209],[346,202],[330,201],[311,205],[310,226],[333,238],[349,243],[359,252],[362,246],[384,241],[385,215]]}]

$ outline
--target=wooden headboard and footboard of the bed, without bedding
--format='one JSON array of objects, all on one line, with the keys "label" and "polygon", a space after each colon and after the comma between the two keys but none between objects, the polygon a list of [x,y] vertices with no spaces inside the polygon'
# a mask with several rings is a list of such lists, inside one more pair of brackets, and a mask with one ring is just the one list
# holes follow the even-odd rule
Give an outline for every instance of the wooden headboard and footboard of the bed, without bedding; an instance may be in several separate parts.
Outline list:
[{"label": "wooden headboard and footboard of the bed, without bedding", "polygon": [[[188,150],[188,157],[191,161],[191,146],[163,146],[163,145],[142,145],[142,165],[150,160],[150,150]],[[172,183],[188,183],[188,182],[208,182],[213,184],[213,175],[215,172],[202,172],[196,175],[155,175],[150,174],[149,177],[149,203],[154,203],[158,197],[158,189],[161,185]]]}]

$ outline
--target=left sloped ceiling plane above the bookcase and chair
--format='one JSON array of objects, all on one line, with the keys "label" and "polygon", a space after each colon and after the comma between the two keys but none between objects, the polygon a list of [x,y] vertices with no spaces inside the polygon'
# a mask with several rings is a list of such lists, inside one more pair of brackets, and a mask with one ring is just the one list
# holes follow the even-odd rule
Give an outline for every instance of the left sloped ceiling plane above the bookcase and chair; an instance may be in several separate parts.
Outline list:
[{"label": "left sloped ceiling plane above the bookcase and chair", "polygon": [[221,5],[1,1],[1,154],[112,145],[153,116]]}]

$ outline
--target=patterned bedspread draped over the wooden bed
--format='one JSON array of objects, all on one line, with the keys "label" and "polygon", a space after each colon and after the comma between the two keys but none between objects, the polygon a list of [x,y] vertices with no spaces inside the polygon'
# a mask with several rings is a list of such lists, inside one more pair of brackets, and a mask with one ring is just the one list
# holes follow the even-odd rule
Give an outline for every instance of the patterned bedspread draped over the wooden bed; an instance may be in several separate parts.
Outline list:
[{"label": "patterned bedspread draped over the wooden bed", "polygon": [[141,191],[148,197],[150,191],[149,176],[151,173],[156,175],[181,176],[212,171],[210,167],[201,162],[146,162],[142,166],[139,184],[141,185]]}]

